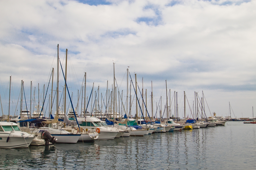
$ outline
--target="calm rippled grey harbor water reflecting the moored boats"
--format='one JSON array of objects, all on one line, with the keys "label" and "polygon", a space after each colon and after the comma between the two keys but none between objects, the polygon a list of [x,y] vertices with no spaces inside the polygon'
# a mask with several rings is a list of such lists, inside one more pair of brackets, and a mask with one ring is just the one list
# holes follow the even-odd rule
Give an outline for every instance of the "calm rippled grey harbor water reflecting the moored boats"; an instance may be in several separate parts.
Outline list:
[{"label": "calm rippled grey harbor water reflecting the moored boats", "polygon": [[0,169],[256,169],[256,124],[0,149]]}]

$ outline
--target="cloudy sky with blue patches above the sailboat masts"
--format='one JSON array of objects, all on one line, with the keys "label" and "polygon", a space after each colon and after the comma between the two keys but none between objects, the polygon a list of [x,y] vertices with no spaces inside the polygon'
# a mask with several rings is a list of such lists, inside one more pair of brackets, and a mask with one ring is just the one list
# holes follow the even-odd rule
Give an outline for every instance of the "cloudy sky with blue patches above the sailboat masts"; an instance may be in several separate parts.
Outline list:
[{"label": "cloudy sky with blue patches above the sailboat masts", "polygon": [[4,114],[8,114],[9,77],[14,114],[21,80],[26,98],[30,98],[30,81],[36,89],[39,83],[40,92],[43,84],[48,85],[52,67],[57,69],[59,44],[63,64],[68,49],[67,79],[74,98],[85,71],[87,95],[93,82],[105,95],[107,80],[109,86],[113,84],[114,62],[123,93],[128,66],[141,89],[143,77],[148,101],[152,80],[154,103],[160,96],[166,102],[167,80],[171,99],[178,92],[180,117],[183,91],[191,107],[194,92],[201,98],[202,90],[209,106],[207,116],[210,112],[227,116],[230,102],[235,116],[252,117],[252,106],[256,106],[255,9],[256,1],[249,0],[0,1]]}]

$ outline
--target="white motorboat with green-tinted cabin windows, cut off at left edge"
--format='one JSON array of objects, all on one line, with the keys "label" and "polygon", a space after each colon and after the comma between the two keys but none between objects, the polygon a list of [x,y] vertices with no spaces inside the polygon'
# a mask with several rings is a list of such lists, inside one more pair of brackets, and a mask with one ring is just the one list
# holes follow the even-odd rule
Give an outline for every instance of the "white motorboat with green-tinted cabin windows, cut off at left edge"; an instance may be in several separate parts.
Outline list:
[{"label": "white motorboat with green-tinted cabin windows, cut off at left edge", "polygon": [[34,135],[22,132],[13,122],[0,122],[0,148],[27,148]]}]

